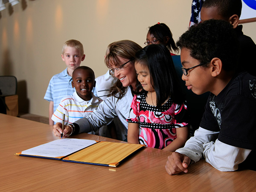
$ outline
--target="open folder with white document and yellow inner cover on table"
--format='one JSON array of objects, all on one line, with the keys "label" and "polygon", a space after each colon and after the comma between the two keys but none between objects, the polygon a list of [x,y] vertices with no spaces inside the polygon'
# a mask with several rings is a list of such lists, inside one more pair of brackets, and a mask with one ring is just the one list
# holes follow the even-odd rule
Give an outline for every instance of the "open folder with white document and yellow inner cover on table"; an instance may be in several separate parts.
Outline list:
[{"label": "open folder with white document and yellow inner cover on table", "polygon": [[15,155],[116,167],[145,145],[84,139],[58,139]]}]

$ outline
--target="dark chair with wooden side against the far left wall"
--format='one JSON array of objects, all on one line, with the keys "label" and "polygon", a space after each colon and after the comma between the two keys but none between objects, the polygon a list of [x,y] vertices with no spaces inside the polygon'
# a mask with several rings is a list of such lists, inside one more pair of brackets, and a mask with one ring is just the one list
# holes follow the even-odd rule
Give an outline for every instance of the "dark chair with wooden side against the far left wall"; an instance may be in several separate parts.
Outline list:
[{"label": "dark chair with wooden side against the far left wall", "polygon": [[18,96],[17,78],[0,76],[0,113],[17,116]]}]

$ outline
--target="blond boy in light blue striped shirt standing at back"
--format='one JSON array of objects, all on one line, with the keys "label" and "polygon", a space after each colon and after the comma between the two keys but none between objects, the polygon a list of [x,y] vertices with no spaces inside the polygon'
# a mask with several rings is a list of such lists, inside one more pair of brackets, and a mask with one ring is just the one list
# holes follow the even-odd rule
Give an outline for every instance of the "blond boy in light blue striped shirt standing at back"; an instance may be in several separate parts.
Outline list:
[{"label": "blond boy in light blue striped shirt standing at back", "polygon": [[68,40],[62,47],[62,60],[67,65],[67,68],[52,77],[49,82],[44,99],[49,101],[49,125],[54,125],[51,117],[57,109],[61,99],[64,96],[72,95],[75,89],[72,87],[72,73],[80,66],[81,61],[84,61],[83,45],[77,40]]}]

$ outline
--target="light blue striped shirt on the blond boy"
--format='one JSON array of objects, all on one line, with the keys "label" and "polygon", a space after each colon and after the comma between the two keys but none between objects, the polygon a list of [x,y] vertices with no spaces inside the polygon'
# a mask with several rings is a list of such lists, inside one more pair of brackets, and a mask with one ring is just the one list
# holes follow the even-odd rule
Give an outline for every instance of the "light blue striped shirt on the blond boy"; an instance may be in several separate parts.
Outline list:
[{"label": "light blue striped shirt on the blond boy", "polygon": [[75,88],[72,88],[71,82],[72,77],[67,73],[67,68],[50,80],[44,99],[53,101],[53,111],[56,111],[64,96],[74,93]]}]

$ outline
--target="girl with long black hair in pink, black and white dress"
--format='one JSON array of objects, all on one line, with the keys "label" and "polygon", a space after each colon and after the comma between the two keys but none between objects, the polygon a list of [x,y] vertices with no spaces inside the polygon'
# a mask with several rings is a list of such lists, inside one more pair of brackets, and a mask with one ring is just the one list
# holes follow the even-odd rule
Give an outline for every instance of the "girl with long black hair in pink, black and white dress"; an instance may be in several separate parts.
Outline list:
[{"label": "girl with long black hair in pink, black and white dress", "polygon": [[138,51],[135,69],[140,87],[128,121],[128,143],[175,151],[189,135],[189,115],[172,56],[160,44]]}]

